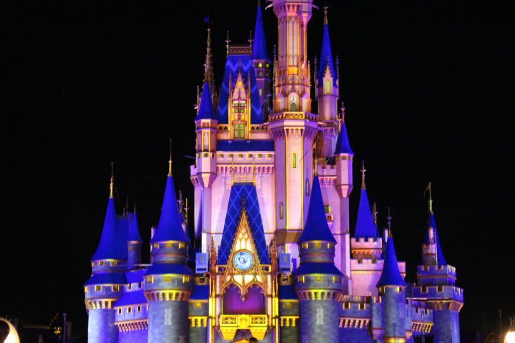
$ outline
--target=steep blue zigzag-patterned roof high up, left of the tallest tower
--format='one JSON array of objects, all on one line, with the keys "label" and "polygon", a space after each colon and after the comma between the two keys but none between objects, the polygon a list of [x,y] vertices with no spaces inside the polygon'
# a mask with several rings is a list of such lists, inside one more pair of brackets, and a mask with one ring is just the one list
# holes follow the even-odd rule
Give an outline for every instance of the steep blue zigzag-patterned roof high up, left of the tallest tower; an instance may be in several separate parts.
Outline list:
[{"label": "steep blue zigzag-patterned roof high up, left of the tallest tower", "polygon": [[234,89],[239,70],[242,72],[243,82],[246,88],[248,88],[247,76],[250,73],[250,122],[252,124],[261,124],[263,123],[263,114],[261,113],[259,89],[256,83],[252,58],[249,55],[230,55],[227,57],[224,79],[220,87],[218,109],[216,110],[218,123],[227,124],[229,121],[229,74],[231,74],[231,89]]}]

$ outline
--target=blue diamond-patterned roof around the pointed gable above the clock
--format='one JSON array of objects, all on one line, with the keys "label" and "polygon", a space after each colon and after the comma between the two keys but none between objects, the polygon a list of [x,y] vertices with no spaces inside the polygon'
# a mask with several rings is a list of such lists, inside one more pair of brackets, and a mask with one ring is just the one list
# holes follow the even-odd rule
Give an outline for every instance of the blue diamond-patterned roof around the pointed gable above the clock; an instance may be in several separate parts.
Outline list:
[{"label": "blue diamond-patterned roof around the pointed gable above the clock", "polygon": [[242,196],[245,196],[245,210],[247,211],[250,231],[260,262],[261,264],[270,264],[259,209],[258,193],[256,193],[256,188],[251,183],[234,184],[231,188],[224,232],[222,232],[222,241],[218,248],[218,264],[227,264],[227,259],[231,254],[234,235],[242,215]]}]

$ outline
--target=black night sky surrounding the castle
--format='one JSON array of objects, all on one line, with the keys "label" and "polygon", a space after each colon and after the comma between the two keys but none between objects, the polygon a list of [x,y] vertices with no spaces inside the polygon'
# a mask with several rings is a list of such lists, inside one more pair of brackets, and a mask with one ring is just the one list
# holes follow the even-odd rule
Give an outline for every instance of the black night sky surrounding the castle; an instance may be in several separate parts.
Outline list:
[{"label": "black night sky surrounding the castle", "polygon": [[[465,288],[461,328],[499,330],[515,312],[513,42],[508,2],[329,1],[340,99],[380,225],[391,207],[398,258],[415,280],[427,203],[445,259]],[[323,4],[318,1],[319,6]],[[137,202],[142,237],[157,225],[173,139],[176,189],[192,199],[193,104],[211,14],[215,79],[226,30],[247,42],[254,1],[2,2],[0,315],[48,323],[68,312],[84,333],[82,284],[99,242],[114,161],[117,210]],[[272,55],[277,21],[264,17]],[[323,14],[308,26],[320,52]],[[511,76],[510,76],[511,74]],[[5,84],[4,82],[7,82]],[[316,109],[316,106],[314,106]],[[511,122],[511,124],[510,124]],[[144,249],[148,260],[148,245]]]}]

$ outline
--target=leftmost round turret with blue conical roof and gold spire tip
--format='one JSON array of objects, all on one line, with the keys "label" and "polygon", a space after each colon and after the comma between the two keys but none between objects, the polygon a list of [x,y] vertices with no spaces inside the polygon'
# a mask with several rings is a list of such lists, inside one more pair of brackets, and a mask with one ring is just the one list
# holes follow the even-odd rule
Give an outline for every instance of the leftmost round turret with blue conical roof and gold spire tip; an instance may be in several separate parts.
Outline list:
[{"label": "leftmost round turret with blue conical roof and gold spire tip", "polygon": [[127,245],[121,242],[116,226],[114,207],[114,176],[111,164],[110,195],[104,227],[98,248],[91,259],[92,275],[84,284],[85,305],[88,317],[88,343],[117,343],[113,305],[122,296],[126,283],[125,263]]}]

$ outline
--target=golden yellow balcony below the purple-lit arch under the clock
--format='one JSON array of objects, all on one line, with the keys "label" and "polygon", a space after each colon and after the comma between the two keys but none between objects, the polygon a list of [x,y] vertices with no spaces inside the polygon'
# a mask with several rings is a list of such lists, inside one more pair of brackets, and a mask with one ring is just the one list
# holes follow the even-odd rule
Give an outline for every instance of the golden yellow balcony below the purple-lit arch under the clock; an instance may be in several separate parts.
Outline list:
[{"label": "golden yellow balcony below the purple-lit arch under the clock", "polygon": [[268,329],[266,314],[229,314],[219,317],[220,333],[225,340],[233,340],[238,330],[249,330],[252,336],[261,340]]}]

